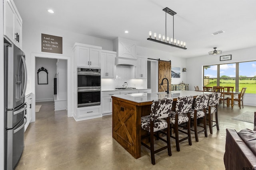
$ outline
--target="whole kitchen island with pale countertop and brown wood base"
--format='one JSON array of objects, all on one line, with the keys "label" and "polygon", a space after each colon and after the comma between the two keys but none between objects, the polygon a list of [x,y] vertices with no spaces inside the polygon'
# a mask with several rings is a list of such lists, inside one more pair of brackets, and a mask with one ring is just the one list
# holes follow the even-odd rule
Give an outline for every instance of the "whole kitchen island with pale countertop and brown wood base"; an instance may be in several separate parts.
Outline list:
[{"label": "whole kitchen island with pale countertop and brown wood base", "polygon": [[158,93],[120,94],[112,96],[112,137],[134,158],[140,158],[141,130],[140,117],[149,115],[153,100],[210,94],[198,91],[171,91]]}]

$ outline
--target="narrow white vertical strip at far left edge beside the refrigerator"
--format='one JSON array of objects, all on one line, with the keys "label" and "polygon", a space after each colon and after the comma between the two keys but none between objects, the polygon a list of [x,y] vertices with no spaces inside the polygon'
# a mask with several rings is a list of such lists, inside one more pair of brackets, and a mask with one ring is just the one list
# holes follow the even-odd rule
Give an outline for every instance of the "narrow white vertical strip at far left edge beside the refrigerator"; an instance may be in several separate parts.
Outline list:
[{"label": "narrow white vertical strip at far left edge beside the refrigerator", "polygon": [[[0,82],[4,82],[4,3],[0,5]],[[0,169],[4,169],[4,84],[0,83]]]}]

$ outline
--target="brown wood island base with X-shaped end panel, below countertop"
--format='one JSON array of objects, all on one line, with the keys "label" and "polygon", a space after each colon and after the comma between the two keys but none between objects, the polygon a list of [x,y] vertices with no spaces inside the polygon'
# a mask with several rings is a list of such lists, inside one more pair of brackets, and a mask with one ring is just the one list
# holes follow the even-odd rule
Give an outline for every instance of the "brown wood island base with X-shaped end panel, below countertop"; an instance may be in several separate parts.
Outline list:
[{"label": "brown wood island base with X-shaped end panel, below countertop", "polygon": [[134,158],[140,158],[140,117],[148,115],[152,102],[136,103],[112,96],[112,137]]}]

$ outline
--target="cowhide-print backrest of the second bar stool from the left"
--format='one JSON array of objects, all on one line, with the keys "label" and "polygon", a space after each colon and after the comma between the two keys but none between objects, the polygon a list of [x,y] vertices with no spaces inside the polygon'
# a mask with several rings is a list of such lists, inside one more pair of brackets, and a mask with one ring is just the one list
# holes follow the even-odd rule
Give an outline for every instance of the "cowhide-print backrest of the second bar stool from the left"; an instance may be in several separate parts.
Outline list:
[{"label": "cowhide-print backrest of the second bar stool from the left", "polygon": [[193,96],[178,97],[175,114],[188,113],[192,108]]}]

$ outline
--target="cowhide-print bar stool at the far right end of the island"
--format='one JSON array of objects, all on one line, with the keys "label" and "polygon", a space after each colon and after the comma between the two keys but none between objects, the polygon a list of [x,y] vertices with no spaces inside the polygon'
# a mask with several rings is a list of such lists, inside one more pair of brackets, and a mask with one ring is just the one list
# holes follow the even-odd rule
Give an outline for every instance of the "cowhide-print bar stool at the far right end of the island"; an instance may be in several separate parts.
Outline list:
[{"label": "cowhide-print bar stool at the far right end of the island", "polygon": [[[210,134],[212,134],[212,127],[216,126],[219,131],[219,121],[218,121],[218,104],[220,102],[221,93],[211,93],[209,95],[208,109],[206,110],[206,115],[208,117],[208,125],[210,129]],[[212,114],[215,113],[215,121],[212,120]],[[212,122],[215,122],[213,124]]]}]

